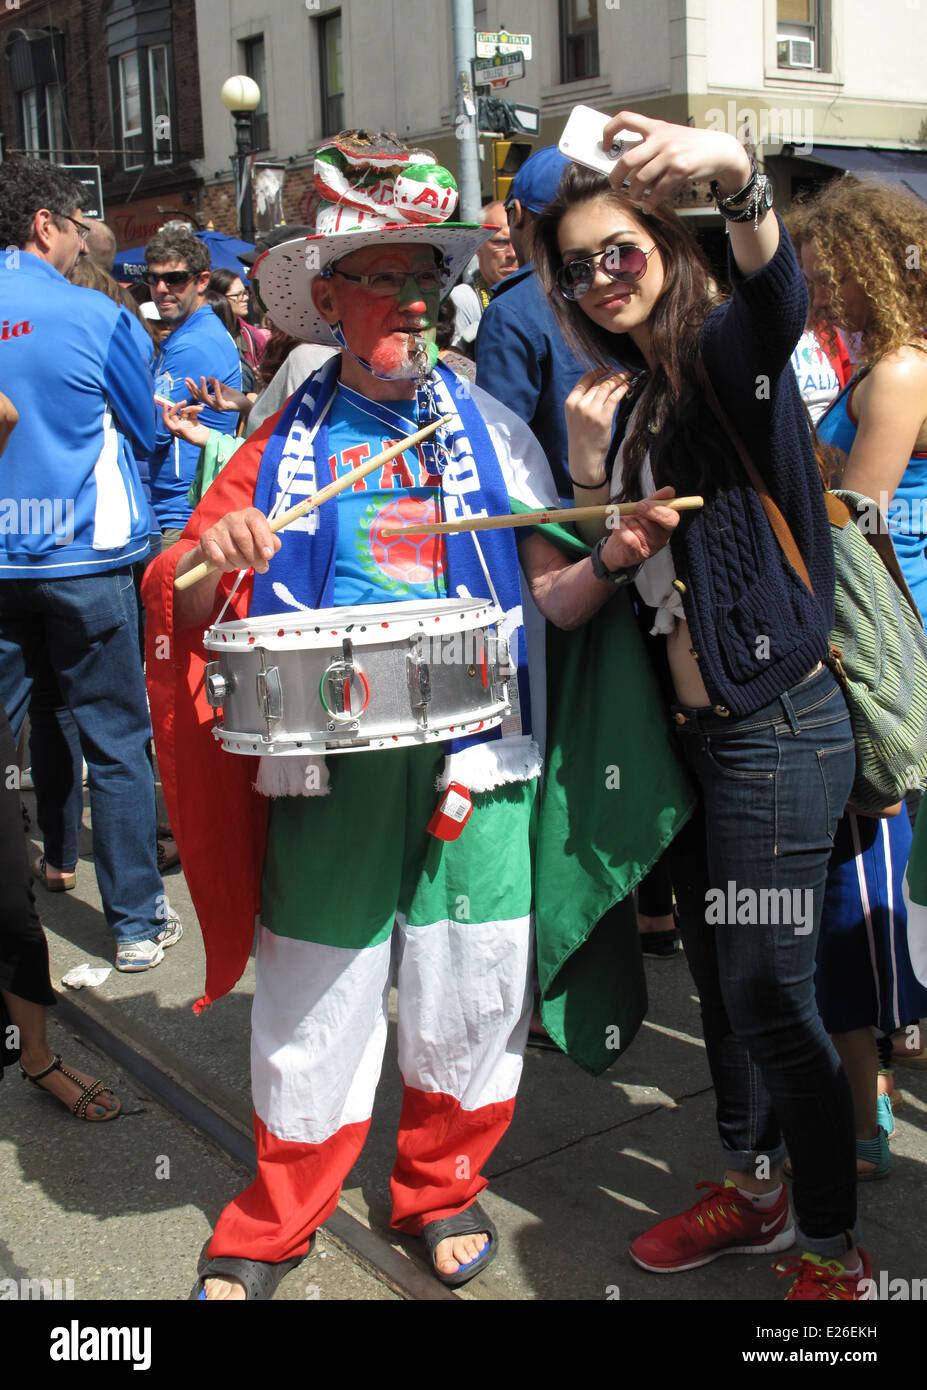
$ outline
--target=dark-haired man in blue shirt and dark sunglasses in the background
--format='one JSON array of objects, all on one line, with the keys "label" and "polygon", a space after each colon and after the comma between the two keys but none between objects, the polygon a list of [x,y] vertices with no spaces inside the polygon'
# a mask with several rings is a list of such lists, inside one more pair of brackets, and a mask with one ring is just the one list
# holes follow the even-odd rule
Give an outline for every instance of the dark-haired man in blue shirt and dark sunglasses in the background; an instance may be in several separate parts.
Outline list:
[{"label": "dark-haired man in blue shirt and dark sunglasses in the background", "polygon": [[[199,386],[200,377],[217,377],[222,385],[242,389],[242,364],[238,348],[222,320],[203,299],[210,279],[208,247],[186,227],[171,224],[157,232],[145,247],[146,282],[161,320],[171,332],[161,343],[154,363],[158,395],[185,400],[186,378]],[[200,424],[220,434],[235,434],[238,417],[227,410],[206,406]],[[186,500],[196,474],[200,450],[175,438],[163,424],[158,411],[154,453],[150,460],[151,506],[161,525],[165,545],[172,545],[189,521],[193,509]]]}]

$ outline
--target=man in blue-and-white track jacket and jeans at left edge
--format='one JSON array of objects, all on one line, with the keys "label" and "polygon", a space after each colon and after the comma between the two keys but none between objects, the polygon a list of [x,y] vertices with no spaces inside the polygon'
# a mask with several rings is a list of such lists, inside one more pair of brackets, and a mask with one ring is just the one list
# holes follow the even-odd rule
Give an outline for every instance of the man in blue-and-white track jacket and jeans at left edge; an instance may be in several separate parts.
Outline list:
[{"label": "man in blue-and-white track jacket and jeans at left edge", "polygon": [[[154,442],[153,382],[126,311],[65,279],[82,192],[44,160],[0,165],[0,384],[19,413],[0,471],[0,703],[18,734],[36,682],[57,682],[88,763],[117,969],[146,970],[182,933],[157,870],[132,582],[149,548],[133,453]],[[35,872],[51,890],[75,881],[60,849],[46,831]]]}]

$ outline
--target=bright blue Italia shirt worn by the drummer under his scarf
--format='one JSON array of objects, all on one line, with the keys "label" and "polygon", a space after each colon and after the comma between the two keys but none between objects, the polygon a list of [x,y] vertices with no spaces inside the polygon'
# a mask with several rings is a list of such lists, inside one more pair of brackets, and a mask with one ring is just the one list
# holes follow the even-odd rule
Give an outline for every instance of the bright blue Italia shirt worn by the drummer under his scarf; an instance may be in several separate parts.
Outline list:
[{"label": "bright blue Italia shirt worn by the drummer under his scarf", "polygon": [[[331,478],[342,477],[417,428],[414,400],[368,400],[339,385],[328,416]],[[384,534],[414,521],[441,520],[441,478],[429,473],[421,449],[406,449],[341,492],[335,605],[446,598],[445,538]]]}]

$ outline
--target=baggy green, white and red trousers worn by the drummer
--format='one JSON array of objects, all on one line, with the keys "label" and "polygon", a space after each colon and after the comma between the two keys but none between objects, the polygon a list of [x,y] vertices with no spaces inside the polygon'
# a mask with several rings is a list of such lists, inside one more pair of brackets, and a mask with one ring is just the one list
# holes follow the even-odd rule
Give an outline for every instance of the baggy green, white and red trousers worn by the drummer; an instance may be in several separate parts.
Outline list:
[{"label": "baggy green, white and red trousers worn by the drummer", "polygon": [[403,1106],[393,1226],[468,1207],[514,1112],[532,1005],[536,781],[474,795],[456,841],[427,833],[443,749],[329,758],[327,796],[274,802],[252,1093],[257,1179],[210,1255],[304,1254],[370,1129],[396,981]]}]

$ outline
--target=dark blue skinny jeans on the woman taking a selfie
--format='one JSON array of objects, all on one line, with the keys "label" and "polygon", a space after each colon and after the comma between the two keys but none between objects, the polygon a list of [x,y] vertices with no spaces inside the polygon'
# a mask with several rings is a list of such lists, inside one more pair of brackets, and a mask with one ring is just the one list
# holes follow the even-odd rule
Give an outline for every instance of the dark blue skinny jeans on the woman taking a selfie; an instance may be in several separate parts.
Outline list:
[{"label": "dark blue skinny jeans on the woman taking a selfie", "polygon": [[700,813],[670,849],[699,991],[725,1169],[769,1176],[785,1145],[805,1250],[856,1227],[853,1104],[814,1001],[827,863],[853,781],[826,667],[744,719],[674,706]]}]

